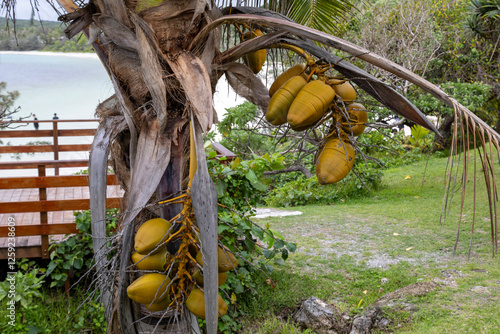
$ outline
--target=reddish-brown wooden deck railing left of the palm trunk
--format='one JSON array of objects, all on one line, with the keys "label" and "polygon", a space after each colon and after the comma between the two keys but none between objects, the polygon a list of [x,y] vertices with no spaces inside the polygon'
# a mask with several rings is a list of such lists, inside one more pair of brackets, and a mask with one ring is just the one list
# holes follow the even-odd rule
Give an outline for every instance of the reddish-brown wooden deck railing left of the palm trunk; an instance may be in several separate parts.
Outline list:
[{"label": "reddish-brown wooden deck railing left of the palm trunk", "polygon": [[[37,176],[29,177],[4,177],[0,178],[0,190],[16,191],[20,189],[38,189],[38,200],[0,202],[0,214],[20,214],[23,219],[24,213],[39,213],[39,223],[33,223],[33,215],[30,221],[19,221],[16,219],[15,236],[41,236],[41,245],[31,245],[29,247],[17,247],[17,257],[49,257],[49,236],[57,234],[76,233],[76,224],[74,222],[64,223],[61,221],[49,221],[48,213],[54,211],[81,211],[90,209],[90,199],[57,199],[48,200],[47,192],[50,188],[60,187],[88,187],[88,175],[59,175],[59,169],[64,167],[87,167],[88,160],[59,160],[59,152],[77,152],[90,151],[90,144],[71,144],[60,145],[59,137],[67,136],[93,136],[96,129],[59,129],[58,123],[82,123],[98,122],[99,120],[38,120],[38,123],[52,123],[52,130],[3,130],[0,131],[0,137],[3,138],[39,138],[51,137],[52,145],[18,145],[18,146],[0,146],[0,153],[39,153],[52,152],[54,160],[37,161],[9,161],[0,162],[0,170],[17,170],[26,168],[36,168]],[[35,121],[13,122],[11,125],[34,123]],[[54,168],[55,176],[47,176],[47,169]],[[115,175],[107,176],[107,185],[117,185]],[[107,199],[108,208],[120,207],[120,197]],[[25,218],[26,219],[26,218]],[[36,219],[38,221],[38,219]],[[7,237],[8,227],[0,226],[0,237]],[[6,249],[0,249],[0,259],[6,258]]]}]

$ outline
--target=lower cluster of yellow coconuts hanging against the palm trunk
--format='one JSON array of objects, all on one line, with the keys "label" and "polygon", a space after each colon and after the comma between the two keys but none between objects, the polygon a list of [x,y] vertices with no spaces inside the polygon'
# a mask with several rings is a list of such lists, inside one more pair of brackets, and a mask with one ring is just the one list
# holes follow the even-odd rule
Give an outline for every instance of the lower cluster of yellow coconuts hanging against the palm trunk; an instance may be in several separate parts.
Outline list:
[{"label": "lower cluster of yellow coconuts hanging against the palm trunk", "polygon": [[[142,224],[135,235],[132,262],[138,270],[158,271],[148,272],[133,281],[127,288],[127,294],[133,301],[143,304],[151,312],[167,310],[176,303],[175,298],[175,278],[165,274],[167,266],[173,265],[172,255],[168,252],[165,241],[171,235],[172,225],[165,219],[154,218]],[[193,251],[194,250],[194,251]],[[205,318],[205,295],[203,292],[203,268],[202,253],[199,250],[191,249],[192,256],[196,263],[189,262],[185,270],[190,273],[191,280],[184,284],[185,305],[188,310],[199,318]],[[170,261],[169,261],[170,260]],[[236,268],[237,259],[228,249],[219,247],[218,250],[218,271],[219,285],[224,284],[227,279],[226,272]],[[163,272],[163,273],[159,273]],[[171,273],[175,277],[175,273]],[[173,286],[173,288],[172,288]],[[218,313],[223,316],[227,312],[227,304],[222,297],[218,296]]]}]

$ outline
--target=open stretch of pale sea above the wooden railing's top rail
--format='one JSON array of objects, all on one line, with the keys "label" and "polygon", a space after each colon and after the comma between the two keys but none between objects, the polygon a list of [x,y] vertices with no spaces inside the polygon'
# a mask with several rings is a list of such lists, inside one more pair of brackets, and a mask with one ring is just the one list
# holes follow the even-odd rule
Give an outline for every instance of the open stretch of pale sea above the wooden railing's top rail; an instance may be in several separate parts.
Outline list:
[{"label": "open stretch of pale sea above the wooden railing's top rail", "polygon": [[[113,94],[109,77],[97,57],[44,53],[0,54],[0,81],[21,94],[19,116],[39,120],[94,118],[96,106]],[[50,127],[41,123],[40,129]]]}]

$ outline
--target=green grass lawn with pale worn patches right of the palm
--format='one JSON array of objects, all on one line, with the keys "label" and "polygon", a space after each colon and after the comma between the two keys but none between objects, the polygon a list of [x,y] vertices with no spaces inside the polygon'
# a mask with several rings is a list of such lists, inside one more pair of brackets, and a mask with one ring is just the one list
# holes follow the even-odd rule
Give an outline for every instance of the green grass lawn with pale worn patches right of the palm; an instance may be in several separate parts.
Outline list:
[{"label": "green grass lawn with pale worn patches right of the palm", "polygon": [[[500,333],[500,260],[492,258],[483,173],[478,166],[475,232],[468,259],[473,170],[453,255],[461,187],[458,184],[453,192],[451,210],[440,223],[446,164],[446,158],[431,159],[425,176],[426,161],[389,169],[382,187],[368,198],[292,208],[302,211],[301,216],[256,219],[269,222],[298,247],[273,273],[276,289],[260,289],[247,333],[302,333],[282,319],[310,296],[353,316],[383,294],[422,281],[440,285],[411,300],[417,312],[394,314],[388,331]],[[460,179],[461,171],[457,175]],[[450,273],[452,277],[446,277]],[[387,283],[382,284],[382,278]]]}]

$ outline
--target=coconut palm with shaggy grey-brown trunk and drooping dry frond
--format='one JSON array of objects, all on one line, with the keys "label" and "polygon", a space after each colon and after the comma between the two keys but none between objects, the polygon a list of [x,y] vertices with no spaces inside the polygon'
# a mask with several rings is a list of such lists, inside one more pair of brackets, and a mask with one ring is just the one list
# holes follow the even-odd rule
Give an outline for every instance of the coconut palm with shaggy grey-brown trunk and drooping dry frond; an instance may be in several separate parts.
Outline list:
[{"label": "coconut palm with shaggy grey-brown trunk and drooping dry frond", "polygon": [[[126,288],[137,277],[130,262],[134,232],[144,220],[157,213],[172,221],[174,231],[199,232],[207,332],[216,333],[217,194],[208,175],[202,134],[216,121],[212,96],[222,75],[236,93],[263,111],[267,109],[268,89],[250,64],[240,60],[247,57],[249,63],[248,57],[258,50],[296,52],[312,67],[323,66],[337,71],[392,111],[437,132],[403,96],[328,50],[344,51],[431,93],[455,110],[452,155],[457,152],[459,132],[464,135],[460,139],[464,147],[470,146],[469,136],[475,139],[471,144],[474,148],[476,145],[483,147],[481,161],[488,191],[492,203],[496,201],[493,155],[484,149],[487,141],[498,148],[500,136],[439,87],[369,50],[331,35],[334,29],[330,20],[341,19],[349,8],[346,2],[238,1],[238,5],[246,6],[231,6],[229,0],[75,1],[78,5],[71,0],[58,2],[67,11],[60,17],[69,24],[67,36],[75,36],[81,31],[87,33],[115,90],[115,94],[97,108],[102,122],[90,156],[97,284],[108,328],[113,333],[137,333],[148,329],[146,322],[151,317],[131,302]],[[2,0],[7,7],[14,3],[14,0]],[[240,42],[243,38],[238,35],[243,37],[245,31],[256,30],[260,30],[262,36]],[[223,33],[225,37],[221,42]],[[120,233],[111,246],[105,234],[105,177],[109,155],[125,190]],[[464,181],[466,178],[467,173],[464,173]],[[467,182],[463,184],[465,187]],[[493,217],[496,216],[495,207],[491,206]],[[496,222],[492,219],[494,252],[496,235]],[[183,248],[187,239],[182,239],[180,244],[173,239],[167,243],[172,256],[181,262],[188,257],[186,247]],[[116,251],[114,257],[109,255],[110,247]],[[183,258],[179,257],[182,249]],[[190,262],[186,260],[185,263]],[[169,266],[168,272],[178,270],[175,278],[177,282],[184,282],[185,271],[174,267]],[[180,311],[184,320],[177,323],[187,327],[179,331],[196,332],[196,319],[182,306],[189,288],[182,288],[180,283],[169,288],[175,300],[169,312],[160,312],[156,324],[149,330],[163,330],[161,320]]]}]

